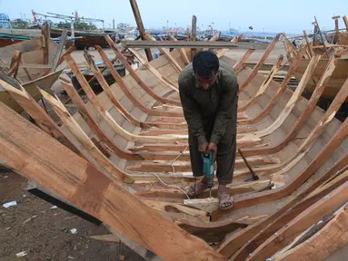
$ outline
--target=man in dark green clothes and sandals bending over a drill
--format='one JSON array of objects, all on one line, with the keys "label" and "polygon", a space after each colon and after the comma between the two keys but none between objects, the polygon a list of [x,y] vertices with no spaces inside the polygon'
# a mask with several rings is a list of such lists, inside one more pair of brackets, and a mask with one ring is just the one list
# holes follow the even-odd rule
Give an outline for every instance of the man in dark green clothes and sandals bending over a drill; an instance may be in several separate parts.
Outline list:
[{"label": "man in dark green clothes and sandals bending over a drill", "polygon": [[[220,208],[233,207],[226,188],[234,175],[238,90],[234,68],[209,51],[194,55],[193,63],[179,75],[180,99],[189,132],[191,167],[194,177],[203,176],[201,153],[214,152],[217,162]],[[207,189],[207,180],[194,184],[192,197]]]}]

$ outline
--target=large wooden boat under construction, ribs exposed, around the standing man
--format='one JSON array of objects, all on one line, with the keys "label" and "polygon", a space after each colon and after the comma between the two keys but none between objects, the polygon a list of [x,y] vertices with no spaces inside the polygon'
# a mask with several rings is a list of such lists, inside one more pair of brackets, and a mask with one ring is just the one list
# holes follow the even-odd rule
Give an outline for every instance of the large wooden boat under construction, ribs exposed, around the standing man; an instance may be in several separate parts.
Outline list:
[{"label": "large wooden boat under construction, ribs exposed, around the standing man", "polygon": [[[216,192],[188,198],[190,173],[187,125],[177,78],[190,50],[168,52],[133,70],[113,41],[105,39],[129,74],[116,73],[104,51],[97,51],[114,76],[109,86],[89,53],[86,62],[104,92],[95,95],[75,60],[75,73],[89,102],[71,82],[65,91],[78,112],[39,90],[59,116],[58,126],[17,83],[0,81],[37,123],[0,103],[0,160],[55,198],[97,218],[146,260],[335,260],[347,245],[348,119],[335,119],[348,96],[348,79],[327,111],[316,107],[338,59],[329,58],[309,100],[302,97],[321,55],[313,55],[295,92],[287,89],[299,64],[298,53],[283,82],[274,82],[278,63],[267,76],[258,73],[278,41],[260,61],[234,65],[240,85],[237,147],[260,179],[245,182],[250,170],[237,154],[229,186],[234,208],[218,208]],[[184,52],[183,55],[183,51]],[[338,260],[338,259],[336,259]]]}]

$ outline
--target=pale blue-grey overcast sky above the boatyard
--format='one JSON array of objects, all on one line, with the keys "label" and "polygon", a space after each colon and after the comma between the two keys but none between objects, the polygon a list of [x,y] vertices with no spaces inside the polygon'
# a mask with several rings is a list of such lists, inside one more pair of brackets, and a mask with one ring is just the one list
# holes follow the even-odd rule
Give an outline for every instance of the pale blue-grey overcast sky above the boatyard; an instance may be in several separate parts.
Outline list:
[{"label": "pale blue-grey overcast sky above the boatyard", "polygon": [[[323,1],[323,0],[322,0]],[[143,17],[144,26],[162,27],[191,24],[192,15],[197,16],[197,26],[225,30],[232,28],[244,31],[249,26],[255,32],[302,33],[303,29],[313,29],[313,15],[316,15],[322,30],[333,29],[333,15],[348,12],[348,0],[137,0]],[[0,13],[10,19],[31,18],[31,10],[46,14],[72,14],[77,10],[80,16],[105,20],[105,26],[127,23],[135,24],[128,0],[0,0]],[[345,14],[345,15],[348,15]],[[101,27],[101,24],[96,24]],[[340,19],[340,28],[344,26]]]}]

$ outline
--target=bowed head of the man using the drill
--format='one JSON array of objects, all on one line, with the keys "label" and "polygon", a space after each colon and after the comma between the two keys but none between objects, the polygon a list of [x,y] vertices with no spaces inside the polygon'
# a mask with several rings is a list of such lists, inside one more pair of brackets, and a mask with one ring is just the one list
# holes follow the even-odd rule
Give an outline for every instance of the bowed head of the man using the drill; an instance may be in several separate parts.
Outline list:
[{"label": "bowed head of the man using the drill", "polygon": [[194,76],[200,87],[209,89],[217,80],[219,58],[215,53],[202,51],[194,55]]}]

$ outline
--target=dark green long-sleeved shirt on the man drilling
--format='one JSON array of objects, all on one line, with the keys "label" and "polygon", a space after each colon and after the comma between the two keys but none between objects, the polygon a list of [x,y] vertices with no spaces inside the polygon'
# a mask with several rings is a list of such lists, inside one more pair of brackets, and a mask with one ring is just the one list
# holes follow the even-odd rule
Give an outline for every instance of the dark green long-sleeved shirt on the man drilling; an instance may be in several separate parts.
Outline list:
[{"label": "dark green long-sleeved shirt on the man drilling", "polygon": [[208,90],[199,87],[192,63],[178,82],[184,118],[199,143],[207,142],[207,135],[218,144],[224,134],[236,134],[239,85],[231,65],[220,61],[217,81]]}]

